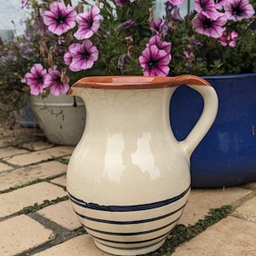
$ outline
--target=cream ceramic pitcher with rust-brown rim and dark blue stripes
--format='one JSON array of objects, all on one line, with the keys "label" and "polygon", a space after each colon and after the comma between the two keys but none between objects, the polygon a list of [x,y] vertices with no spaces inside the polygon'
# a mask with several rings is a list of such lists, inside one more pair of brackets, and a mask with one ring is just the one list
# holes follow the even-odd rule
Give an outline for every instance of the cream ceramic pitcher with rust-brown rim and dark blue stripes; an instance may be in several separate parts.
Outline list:
[{"label": "cream ceramic pitcher with rust-brown rim and dark blue stripes", "polygon": [[[178,142],[169,107],[182,84],[201,94],[204,109]],[[82,97],[86,108],[84,134],[67,168],[67,191],[80,223],[105,252],[156,250],[189,199],[189,158],[216,117],[215,90],[192,75],[117,76],[80,79],[69,94]]]}]

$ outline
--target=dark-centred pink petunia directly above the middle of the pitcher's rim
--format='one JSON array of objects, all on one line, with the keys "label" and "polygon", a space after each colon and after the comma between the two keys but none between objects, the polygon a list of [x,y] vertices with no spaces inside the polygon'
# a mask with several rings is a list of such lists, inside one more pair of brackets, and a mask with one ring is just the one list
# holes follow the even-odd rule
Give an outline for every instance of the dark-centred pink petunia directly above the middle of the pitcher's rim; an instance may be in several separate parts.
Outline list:
[{"label": "dark-centred pink petunia directly above the middle of the pitcher's rim", "polygon": [[143,67],[144,76],[166,77],[170,71],[168,64],[172,56],[164,49],[158,49],[156,45],[148,45],[139,56],[139,63]]}]

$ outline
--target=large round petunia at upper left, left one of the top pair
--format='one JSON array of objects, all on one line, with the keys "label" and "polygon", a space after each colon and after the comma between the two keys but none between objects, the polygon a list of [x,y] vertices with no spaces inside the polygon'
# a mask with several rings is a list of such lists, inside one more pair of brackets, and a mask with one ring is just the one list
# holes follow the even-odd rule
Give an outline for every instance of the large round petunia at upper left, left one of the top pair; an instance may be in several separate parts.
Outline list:
[{"label": "large round petunia at upper left, left one of the top pair", "polygon": [[61,36],[63,33],[76,26],[77,12],[73,7],[67,7],[64,3],[53,2],[49,4],[49,11],[44,11],[44,24],[49,32]]}]

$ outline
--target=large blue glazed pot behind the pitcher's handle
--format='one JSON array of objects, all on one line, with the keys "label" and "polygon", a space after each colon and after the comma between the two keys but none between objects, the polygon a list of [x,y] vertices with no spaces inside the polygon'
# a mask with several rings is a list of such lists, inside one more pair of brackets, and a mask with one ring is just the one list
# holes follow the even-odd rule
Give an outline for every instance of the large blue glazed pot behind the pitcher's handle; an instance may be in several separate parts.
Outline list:
[{"label": "large blue glazed pot behind the pitcher's handle", "polygon": [[[194,188],[218,188],[256,181],[256,73],[203,77],[217,91],[217,118],[191,156]],[[172,130],[183,140],[195,125],[203,101],[187,86],[172,96]]]}]

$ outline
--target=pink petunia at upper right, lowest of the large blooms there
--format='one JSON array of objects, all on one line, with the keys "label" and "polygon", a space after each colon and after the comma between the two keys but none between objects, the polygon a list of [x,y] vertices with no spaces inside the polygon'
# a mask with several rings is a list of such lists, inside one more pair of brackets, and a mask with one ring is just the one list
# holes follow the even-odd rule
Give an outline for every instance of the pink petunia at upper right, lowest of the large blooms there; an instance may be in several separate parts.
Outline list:
[{"label": "pink petunia at upper right, lowest of the large blooms there", "polygon": [[198,15],[192,21],[192,24],[199,34],[210,38],[220,38],[225,31],[224,25],[226,22],[227,19],[224,14],[219,16],[217,20],[208,19],[205,15]]}]

